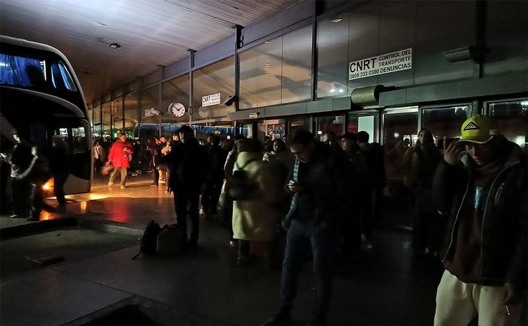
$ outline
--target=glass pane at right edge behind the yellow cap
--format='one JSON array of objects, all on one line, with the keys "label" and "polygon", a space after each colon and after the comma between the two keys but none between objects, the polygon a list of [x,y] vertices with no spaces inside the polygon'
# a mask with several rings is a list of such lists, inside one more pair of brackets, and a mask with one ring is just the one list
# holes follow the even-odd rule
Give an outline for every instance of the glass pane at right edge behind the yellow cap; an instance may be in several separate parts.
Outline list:
[{"label": "glass pane at right edge behind the yellow cap", "polygon": [[528,99],[488,104],[489,115],[508,140],[527,150]]}]

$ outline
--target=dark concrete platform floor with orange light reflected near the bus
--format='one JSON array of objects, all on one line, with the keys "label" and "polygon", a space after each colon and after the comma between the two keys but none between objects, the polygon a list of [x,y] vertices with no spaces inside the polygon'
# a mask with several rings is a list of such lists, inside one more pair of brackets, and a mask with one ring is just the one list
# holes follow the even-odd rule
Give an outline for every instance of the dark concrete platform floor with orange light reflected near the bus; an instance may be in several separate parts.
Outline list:
[{"label": "dark concrete platform floor with orange light reflected near the bus", "polygon": [[[136,228],[152,219],[162,225],[174,222],[172,195],[163,193],[164,187],[149,186],[149,177],[132,177],[129,188],[110,190],[104,180],[97,180],[91,194],[68,197],[63,215]],[[58,217],[55,213],[41,215],[41,219]],[[4,216],[0,227],[10,227],[10,222]],[[414,257],[409,233],[378,231],[374,236],[374,249],[359,259],[337,257],[329,324],[431,325],[443,271],[440,263],[431,257]],[[127,300],[164,307],[160,316],[164,325],[260,325],[277,308],[280,271],[266,270],[262,263],[237,267],[236,250],[229,247],[227,231],[218,220],[202,219],[199,247],[176,258],[132,260],[138,245],[112,247],[112,237],[108,234],[108,241],[101,241],[106,250],[98,254],[85,253],[79,259],[19,270],[3,278],[0,324],[76,325],[85,323],[90,313]],[[73,245],[88,238],[79,234],[69,241]],[[13,245],[8,241],[19,241],[22,249],[2,251],[2,260],[9,254],[10,259],[25,254],[22,239],[5,240],[1,245]],[[312,284],[306,263],[294,309],[298,323],[311,316]]]}]

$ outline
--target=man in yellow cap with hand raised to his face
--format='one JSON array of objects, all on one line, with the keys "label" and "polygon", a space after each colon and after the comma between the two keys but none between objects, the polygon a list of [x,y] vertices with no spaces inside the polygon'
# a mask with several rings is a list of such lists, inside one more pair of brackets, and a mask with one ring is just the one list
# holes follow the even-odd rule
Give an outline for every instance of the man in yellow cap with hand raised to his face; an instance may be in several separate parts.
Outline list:
[{"label": "man in yellow cap with hand raised to his face", "polygon": [[518,325],[528,278],[525,157],[484,115],[465,120],[461,135],[434,176],[447,222],[434,325],[477,315],[479,325]]}]

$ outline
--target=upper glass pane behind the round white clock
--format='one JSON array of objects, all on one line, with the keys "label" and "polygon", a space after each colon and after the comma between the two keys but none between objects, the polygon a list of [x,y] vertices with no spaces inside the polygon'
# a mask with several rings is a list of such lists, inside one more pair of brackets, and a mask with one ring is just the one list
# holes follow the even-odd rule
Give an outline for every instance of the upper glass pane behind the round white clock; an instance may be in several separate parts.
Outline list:
[{"label": "upper glass pane behind the round white clock", "polygon": [[[162,84],[161,112],[166,113],[161,117],[163,123],[189,122],[189,75],[183,75]],[[181,103],[185,106],[185,115],[174,117],[169,111],[172,103]]]}]

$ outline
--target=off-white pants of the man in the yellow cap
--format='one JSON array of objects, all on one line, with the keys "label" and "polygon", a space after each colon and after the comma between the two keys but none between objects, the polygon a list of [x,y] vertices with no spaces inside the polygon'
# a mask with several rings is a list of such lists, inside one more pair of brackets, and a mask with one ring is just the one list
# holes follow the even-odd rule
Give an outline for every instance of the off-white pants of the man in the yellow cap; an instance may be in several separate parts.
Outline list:
[{"label": "off-white pants of the man in the yellow cap", "polygon": [[434,325],[468,325],[479,315],[479,326],[518,325],[522,303],[502,304],[506,291],[503,286],[482,286],[464,283],[447,270],[436,291]]}]

